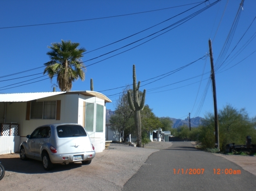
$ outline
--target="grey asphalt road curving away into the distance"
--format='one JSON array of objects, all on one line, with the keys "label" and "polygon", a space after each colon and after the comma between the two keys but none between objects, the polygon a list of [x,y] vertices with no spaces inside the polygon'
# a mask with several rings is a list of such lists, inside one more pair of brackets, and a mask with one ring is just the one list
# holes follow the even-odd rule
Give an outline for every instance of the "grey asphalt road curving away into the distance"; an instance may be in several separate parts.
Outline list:
[{"label": "grey asphalt road curving away into the distance", "polygon": [[123,191],[131,190],[255,191],[256,176],[223,157],[195,149],[190,142],[173,142],[151,154],[126,182]]}]

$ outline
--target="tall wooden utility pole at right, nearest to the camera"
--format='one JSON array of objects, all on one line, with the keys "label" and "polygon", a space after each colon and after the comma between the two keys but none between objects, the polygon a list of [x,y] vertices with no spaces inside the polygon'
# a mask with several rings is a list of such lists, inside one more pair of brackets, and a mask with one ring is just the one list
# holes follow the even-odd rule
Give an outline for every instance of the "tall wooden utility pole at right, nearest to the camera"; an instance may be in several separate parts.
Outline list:
[{"label": "tall wooden utility pole at right, nearest to the camera", "polygon": [[220,150],[220,140],[219,140],[219,126],[218,126],[218,110],[217,110],[217,97],[216,97],[216,84],[215,84],[215,73],[214,73],[214,63],[211,47],[211,39],[209,39],[209,50],[211,59],[211,80],[212,80],[212,90],[214,97],[214,123],[215,123],[215,147]]}]

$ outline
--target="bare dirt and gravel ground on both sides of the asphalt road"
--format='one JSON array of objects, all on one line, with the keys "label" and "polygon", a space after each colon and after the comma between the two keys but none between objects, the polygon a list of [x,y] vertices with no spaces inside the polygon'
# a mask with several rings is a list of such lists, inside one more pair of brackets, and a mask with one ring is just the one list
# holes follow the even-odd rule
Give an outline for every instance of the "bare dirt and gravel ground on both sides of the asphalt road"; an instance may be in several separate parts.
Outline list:
[{"label": "bare dirt and gravel ground on both sides of the asphalt road", "polygon": [[[91,191],[121,191],[123,185],[153,152],[171,145],[171,142],[150,142],[145,148],[136,148],[124,143],[111,143],[109,149],[96,153],[90,165],[82,165],[80,162],[56,165],[52,171],[45,171],[40,161],[21,161],[19,154],[3,154],[0,155],[0,161],[6,172],[0,181],[0,190],[86,188]],[[256,156],[216,155],[236,163],[256,176]]]}]

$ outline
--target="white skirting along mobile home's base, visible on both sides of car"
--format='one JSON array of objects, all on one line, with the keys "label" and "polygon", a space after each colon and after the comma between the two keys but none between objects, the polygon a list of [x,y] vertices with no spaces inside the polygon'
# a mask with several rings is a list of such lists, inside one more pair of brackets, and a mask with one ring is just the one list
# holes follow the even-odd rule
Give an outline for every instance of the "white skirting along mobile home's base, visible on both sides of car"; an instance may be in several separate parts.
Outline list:
[{"label": "white skirting along mobile home's base, visible on both sides of car", "polygon": [[[95,152],[102,152],[105,150],[104,138],[90,138],[91,143],[95,148]],[[26,137],[20,136],[0,136],[0,154],[10,154],[20,152],[20,144],[27,141]]]}]

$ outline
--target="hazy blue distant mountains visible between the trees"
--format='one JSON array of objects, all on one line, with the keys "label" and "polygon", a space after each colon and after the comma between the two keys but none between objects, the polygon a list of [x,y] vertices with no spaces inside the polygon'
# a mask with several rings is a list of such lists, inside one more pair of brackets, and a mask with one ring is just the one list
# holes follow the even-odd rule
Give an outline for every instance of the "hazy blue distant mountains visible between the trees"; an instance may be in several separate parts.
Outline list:
[{"label": "hazy blue distant mountains visible between the trees", "polygon": [[[115,113],[115,111],[106,109],[106,124],[109,124],[110,116],[113,115],[114,113]],[[165,118],[165,117],[160,117],[160,118]],[[171,119],[174,122],[173,128],[177,128],[182,125],[189,126],[189,119],[183,120],[183,119],[175,119],[175,118],[171,118],[171,117],[169,117],[169,119]],[[201,119],[203,119],[203,118],[202,117],[190,118],[191,127],[198,127],[201,124]]]}]

